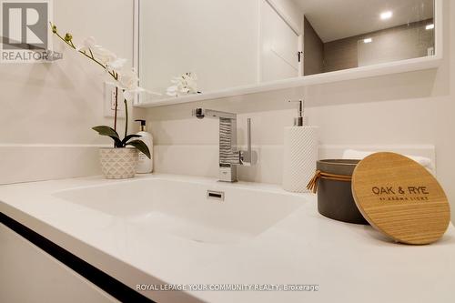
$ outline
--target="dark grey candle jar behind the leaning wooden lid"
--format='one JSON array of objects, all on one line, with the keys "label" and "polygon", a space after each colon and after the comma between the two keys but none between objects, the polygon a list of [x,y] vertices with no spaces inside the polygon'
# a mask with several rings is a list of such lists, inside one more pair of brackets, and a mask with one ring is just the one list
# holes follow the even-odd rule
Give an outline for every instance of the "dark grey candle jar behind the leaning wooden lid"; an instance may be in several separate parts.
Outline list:
[{"label": "dark grey candle jar behind the leaning wooden lid", "polygon": [[[322,173],[352,176],[359,160],[320,160],[317,167]],[[351,182],[320,178],[318,210],[325,217],[335,220],[368,225],[352,197]]]}]

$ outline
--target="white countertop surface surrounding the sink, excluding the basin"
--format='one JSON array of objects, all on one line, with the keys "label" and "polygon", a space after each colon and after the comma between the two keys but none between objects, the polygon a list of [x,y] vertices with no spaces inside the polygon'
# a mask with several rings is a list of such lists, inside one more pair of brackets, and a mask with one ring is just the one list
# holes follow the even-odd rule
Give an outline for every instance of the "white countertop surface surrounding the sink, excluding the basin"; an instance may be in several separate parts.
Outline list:
[{"label": "white countertop surface surrounding the sink, excluding the basin", "polygon": [[[199,177],[165,177],[215,182]],[[455,301],[452,225],[432,245],[400,245],[372,227],[319,215],[316,197],[301,195],[303,207],[251,240],[198,243],[135,227],[52,196],[58,190],[115,182],[123,181],[86,177],[0,186],[0,212],[131,288],[138,284],[319,286],[319,291],[312,292],[141,292],[157,302]],[[232,187],[284,193],[271,185],[238,183]]]}]

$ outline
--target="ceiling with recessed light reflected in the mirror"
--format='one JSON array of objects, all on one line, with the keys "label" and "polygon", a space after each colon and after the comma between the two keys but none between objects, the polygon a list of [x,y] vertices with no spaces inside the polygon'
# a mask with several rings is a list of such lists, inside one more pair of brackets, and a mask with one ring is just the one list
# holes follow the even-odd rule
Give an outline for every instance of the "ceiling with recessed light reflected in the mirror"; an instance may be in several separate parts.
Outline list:
[{"label": "ceiling with recessed light reflected in the mirror", "polygon": [[[323,42],[433,17],[433,0],[293,0]],[[379,15],[392,11],[388,20]]]}]

